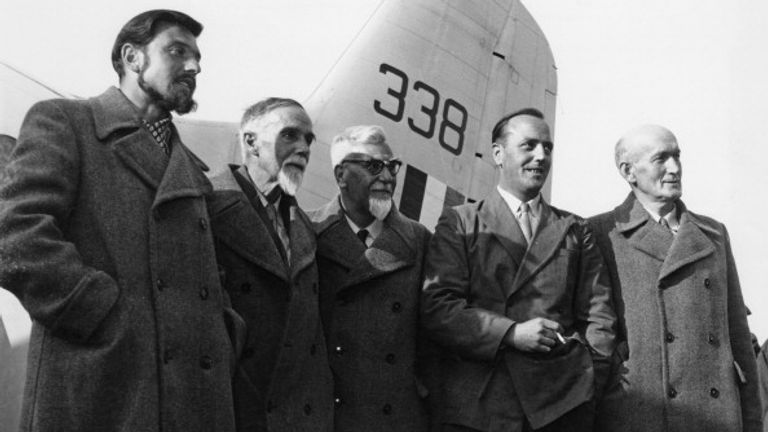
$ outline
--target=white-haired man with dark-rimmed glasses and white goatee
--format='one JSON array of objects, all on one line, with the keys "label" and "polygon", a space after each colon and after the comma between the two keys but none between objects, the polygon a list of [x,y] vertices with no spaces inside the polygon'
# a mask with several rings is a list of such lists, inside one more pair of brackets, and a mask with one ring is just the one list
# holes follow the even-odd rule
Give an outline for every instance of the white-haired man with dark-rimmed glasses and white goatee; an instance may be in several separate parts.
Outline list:
[{"label": "white-haired man with dark-rimmed glasses and white goatee", "polygon": [[418,337],[429,231],[392,202],[401,162],[378,126],[333,139],[339,195],[310,212],[334,375],[334,430],[426,431]]}]

